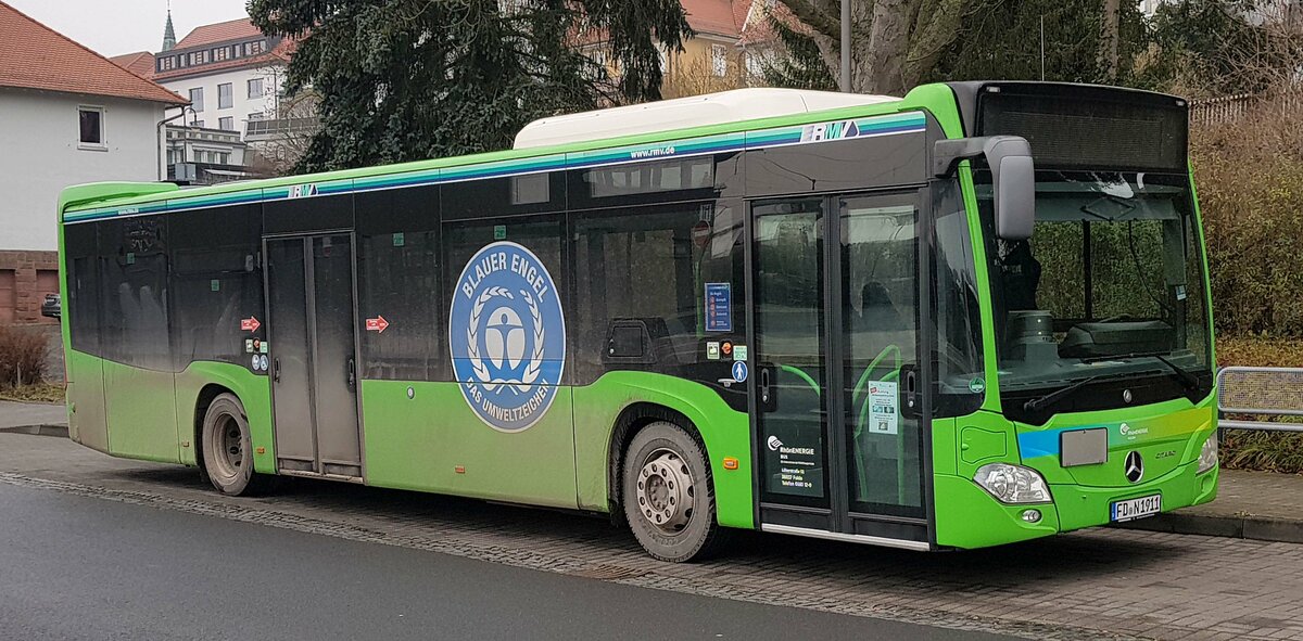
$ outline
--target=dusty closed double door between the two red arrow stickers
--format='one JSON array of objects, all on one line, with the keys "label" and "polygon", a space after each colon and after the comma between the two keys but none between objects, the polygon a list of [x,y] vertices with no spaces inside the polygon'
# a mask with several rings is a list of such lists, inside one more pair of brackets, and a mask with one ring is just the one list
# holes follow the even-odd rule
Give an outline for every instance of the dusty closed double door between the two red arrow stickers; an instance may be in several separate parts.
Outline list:
[{"label": "dusty closed double door between the two red arrow stickers", "polygon": [[352,237],[267,238],[265,255],[276,465],[361,481]]}]

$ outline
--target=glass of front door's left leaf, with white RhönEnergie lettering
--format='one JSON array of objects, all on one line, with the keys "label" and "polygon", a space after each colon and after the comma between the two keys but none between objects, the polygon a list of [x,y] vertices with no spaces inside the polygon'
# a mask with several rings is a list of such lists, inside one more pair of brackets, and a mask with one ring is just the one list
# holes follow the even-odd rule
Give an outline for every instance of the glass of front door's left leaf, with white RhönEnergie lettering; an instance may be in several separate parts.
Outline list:
[{"label": "glass of front door's left leaf, with white Rh\u00f6nEnergie lettering", "polygon": [[752,212],[761,496],[827,507],[823,201]]}]

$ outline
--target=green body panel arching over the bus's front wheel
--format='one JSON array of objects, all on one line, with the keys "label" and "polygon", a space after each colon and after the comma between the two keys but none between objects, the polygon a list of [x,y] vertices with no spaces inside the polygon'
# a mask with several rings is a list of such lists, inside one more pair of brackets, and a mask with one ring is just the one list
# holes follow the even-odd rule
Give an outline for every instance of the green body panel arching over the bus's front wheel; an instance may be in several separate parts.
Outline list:
[{"label": "green body panel arching over the bus's front wheel", "polygon": [[[721,525],[754,528],[752,495],[751,422],[731,409],[709,387],[642,371],[611,371],[593,384],[575,388],[575,460],[579,500],[585,509],[606,512],[611,430],[635,403],[663,405],[697,427],[710,459],[715,482],[715,512]],[[724,457],[737,459],[737,469],[724,469]]]}]

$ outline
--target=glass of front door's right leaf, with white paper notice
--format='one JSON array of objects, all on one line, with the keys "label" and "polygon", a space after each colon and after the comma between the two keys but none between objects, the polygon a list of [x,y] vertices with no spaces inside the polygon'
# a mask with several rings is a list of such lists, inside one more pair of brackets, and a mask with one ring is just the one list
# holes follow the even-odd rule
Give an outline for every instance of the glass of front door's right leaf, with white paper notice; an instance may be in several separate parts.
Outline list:
[{"label": "glass of front door's right leaf, with white paper notice", "polygon": [[913,194],[840,199],[840,270],[852,512],[923,516],[920,422],[902,412],[917,371],[919,219]]}]

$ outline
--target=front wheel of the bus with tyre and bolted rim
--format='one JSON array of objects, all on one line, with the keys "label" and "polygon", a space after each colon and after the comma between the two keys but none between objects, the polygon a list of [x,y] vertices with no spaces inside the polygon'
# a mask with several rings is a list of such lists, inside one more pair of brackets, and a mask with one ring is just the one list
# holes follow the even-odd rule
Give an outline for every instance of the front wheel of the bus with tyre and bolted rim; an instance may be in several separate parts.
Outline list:
[{"label": "front wheel of the bus with tyre and bolted rim", "polygon": [[702,447],[678,425],[659,421],[629,442],[622,472],[624,517],[652,556],[708,558],[721,538],[715,491]]}]

